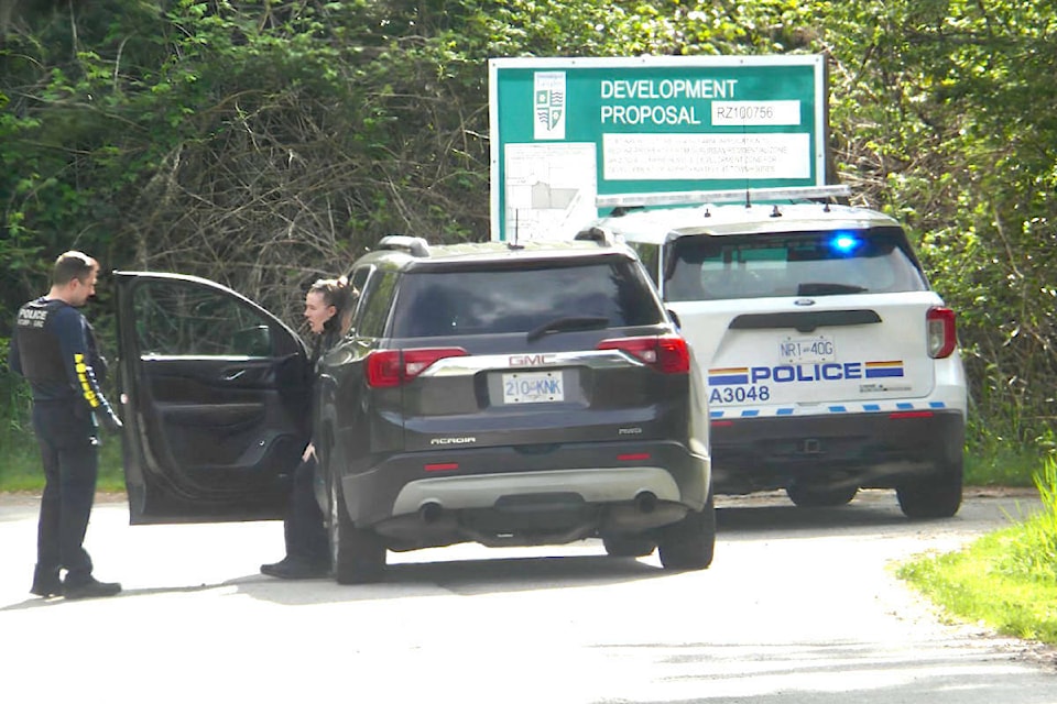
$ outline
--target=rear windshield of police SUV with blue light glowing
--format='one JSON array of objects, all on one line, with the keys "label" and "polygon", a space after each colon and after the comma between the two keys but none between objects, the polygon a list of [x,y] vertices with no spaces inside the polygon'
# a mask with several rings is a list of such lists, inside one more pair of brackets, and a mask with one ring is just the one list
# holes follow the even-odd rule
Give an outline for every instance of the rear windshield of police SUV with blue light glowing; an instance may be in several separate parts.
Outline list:
[{"label": "rear windshield of police SUV with blue light glowing", "polygon": [[926,290],[898,228],[684,237],[671,245],[666,300]]}]

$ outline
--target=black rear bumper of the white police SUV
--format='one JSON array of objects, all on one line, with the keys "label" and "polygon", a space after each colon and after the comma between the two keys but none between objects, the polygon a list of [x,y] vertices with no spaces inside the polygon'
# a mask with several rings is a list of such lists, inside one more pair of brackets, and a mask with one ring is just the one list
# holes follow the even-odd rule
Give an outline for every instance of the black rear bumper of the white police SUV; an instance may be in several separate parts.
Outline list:
[{"label": "black rear bumper of the white police SUV", "polygon": [[711,425],[717,494],[789,483],[894,488],[907,479],[961,471],[960,410],[738,418]]}]

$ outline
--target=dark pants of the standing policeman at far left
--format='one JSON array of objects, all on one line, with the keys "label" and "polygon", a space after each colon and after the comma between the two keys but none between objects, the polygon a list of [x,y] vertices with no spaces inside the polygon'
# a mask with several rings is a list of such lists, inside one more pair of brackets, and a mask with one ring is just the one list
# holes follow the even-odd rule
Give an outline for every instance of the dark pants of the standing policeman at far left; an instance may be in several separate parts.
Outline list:
[{"label": "dark pants of the standing policeman at far left", "polygon": [[36,531],[37,574],[67,570],[70,584],[91,575],[91,558],[84,548],[88,517],[96,496],[99,441],[91,415],[68,402],[33,404],[44,460],[44,496]]}]

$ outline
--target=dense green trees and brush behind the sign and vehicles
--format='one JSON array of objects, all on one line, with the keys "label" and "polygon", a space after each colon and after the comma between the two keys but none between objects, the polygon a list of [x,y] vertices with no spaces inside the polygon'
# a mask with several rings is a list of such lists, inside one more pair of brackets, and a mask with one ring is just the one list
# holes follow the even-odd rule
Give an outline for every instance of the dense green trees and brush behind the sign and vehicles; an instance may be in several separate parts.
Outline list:
[{"label": "dense green trees and brush behind the sign and vehicles", "polygon": [[0,337],[70,248],[296,320],[385,233],[487,238],[488,57],[822,53],[837,177],[958,311],[976,441],[1045,443],[1053,6],[0,0]]}]

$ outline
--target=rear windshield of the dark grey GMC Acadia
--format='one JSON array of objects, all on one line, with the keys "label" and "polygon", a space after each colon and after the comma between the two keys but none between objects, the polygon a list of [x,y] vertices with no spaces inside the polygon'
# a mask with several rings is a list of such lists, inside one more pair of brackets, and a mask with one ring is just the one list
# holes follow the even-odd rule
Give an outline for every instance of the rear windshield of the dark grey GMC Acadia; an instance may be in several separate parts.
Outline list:
[{"label": "rear windshield of the dark grey GMC Acadia", "polygon": [[663,312],[641,267],[614,257],[412,272],[400,284],[393,337],[528,332],[562,317],[631,327],[656,324]]}]

